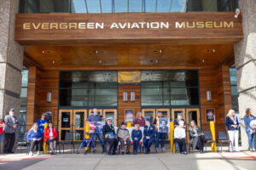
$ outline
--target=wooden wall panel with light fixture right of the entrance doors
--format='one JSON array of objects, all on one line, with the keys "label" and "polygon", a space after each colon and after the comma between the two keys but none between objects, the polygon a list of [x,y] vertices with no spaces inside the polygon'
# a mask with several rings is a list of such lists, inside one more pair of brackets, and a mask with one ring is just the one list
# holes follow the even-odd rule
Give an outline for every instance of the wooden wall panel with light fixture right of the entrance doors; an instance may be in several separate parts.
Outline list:
[{"label": "wooden wall panel with light fixture right of the entrance doors", "polygon": [[[199,71],[201,94],[201,125],[203,130],[209,130],[206,109],[215,109],[215,129],[225,129],[225,115],[231,109],[230,71],[229,65],[220,65],[217,69],[202,69]],[[207,101],[207,90],[212,92],[212,101]]]}]

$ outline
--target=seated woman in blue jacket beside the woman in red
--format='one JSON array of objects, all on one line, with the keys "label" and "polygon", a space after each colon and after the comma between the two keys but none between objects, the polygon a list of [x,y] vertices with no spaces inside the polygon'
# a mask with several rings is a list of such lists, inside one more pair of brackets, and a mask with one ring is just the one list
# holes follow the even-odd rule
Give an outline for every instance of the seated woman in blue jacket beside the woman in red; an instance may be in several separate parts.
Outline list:
[{"label": "seated woman in blue jacket beside the woman in red", "polygon": [[27,141],[30,143],[29,156],[33,155],[33,150],[34,150],[35,145],[36,145],[36,150],[37,150],[37,156],[39,156],[43,136],[42,136],[42,133],[40,132],[40,130],[38,129],[37,122],[35,122],[33,124],[32,128],[28,131],[26,138],[27,138]]}]

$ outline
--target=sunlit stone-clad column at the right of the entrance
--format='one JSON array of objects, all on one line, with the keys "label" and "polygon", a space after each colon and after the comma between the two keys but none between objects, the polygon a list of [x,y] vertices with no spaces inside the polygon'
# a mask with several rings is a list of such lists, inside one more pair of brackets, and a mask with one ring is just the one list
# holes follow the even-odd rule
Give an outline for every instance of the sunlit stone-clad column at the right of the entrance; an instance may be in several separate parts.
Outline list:
[{"label": "sunlit stone-clad column at the right of the entrance", "polygon": [[[248,108],[256,116],[256,1],[239,0],[244,38],[235,44],[239,114],[245,116]],[[248,141],[244,124],[241,125],[241,145],[247,150]]]}]

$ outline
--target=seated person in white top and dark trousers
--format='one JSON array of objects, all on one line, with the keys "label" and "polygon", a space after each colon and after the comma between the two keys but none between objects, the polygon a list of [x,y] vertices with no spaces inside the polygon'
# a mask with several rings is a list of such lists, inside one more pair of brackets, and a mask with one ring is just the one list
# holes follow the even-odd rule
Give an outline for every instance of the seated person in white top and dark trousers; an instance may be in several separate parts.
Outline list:
[{"label": "seated person in white top and dark trousers", "polygon": [[179,126],[174,129],[174,140],[177,142],[179,147],[179,152],[181,154],[187,155],[187,147],[186,147],[186,131],[183,128],[184,122],[178,122]]}]

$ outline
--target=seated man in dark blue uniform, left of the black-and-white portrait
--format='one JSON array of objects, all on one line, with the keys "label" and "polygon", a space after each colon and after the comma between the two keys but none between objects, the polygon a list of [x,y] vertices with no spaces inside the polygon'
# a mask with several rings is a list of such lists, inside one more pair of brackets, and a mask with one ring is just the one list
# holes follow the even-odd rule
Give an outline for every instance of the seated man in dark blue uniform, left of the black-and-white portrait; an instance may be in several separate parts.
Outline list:
[{"label": "seated man in dark blue uniform, left of the black-and-white portrait", "polygon": [[143,138],[144,153],[149,154],[150,146],[151,144],[153,144],[155,140],[155,127],[154,125],[151,125],[151,119],[149,118],[146,118],[146,125],[144,126],[143,135],[144,135],[144,138]]}]

